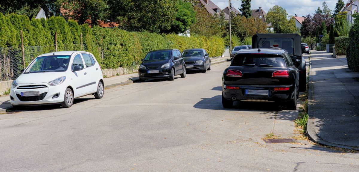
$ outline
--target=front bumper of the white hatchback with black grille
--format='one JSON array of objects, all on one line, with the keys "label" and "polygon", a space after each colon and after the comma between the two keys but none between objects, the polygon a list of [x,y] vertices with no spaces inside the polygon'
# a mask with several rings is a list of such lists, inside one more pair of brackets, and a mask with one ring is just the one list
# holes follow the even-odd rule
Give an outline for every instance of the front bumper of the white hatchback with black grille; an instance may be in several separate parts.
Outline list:
[{"label": "front bumper of the white hatchback with black grille", "polygon": [[[45,85],[43,88],[20,89],[20,86]],[[18,84],[15,89],[10,89],[10,104],[12,105],[41,105],[58,104],[64,101],[66,86],[61,83],[56,86],[49,86],[47,83]],[[39,96],[21,96],[21,92],[39,91]],[[56,96],[55,96],[56,95]],[[53,98],[55,97],[55,98]]]}]

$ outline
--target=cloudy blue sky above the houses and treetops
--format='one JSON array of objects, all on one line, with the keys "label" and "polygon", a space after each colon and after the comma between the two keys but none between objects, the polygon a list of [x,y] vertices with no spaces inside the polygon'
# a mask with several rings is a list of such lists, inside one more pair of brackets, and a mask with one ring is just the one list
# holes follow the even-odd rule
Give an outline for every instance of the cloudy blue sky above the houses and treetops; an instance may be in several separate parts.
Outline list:
[{"label": "cloudy blue sky above the houses and treetops", "polygon": [[[211,0],[219,8],[224,9],[228,6],[228,0]],[[252,0],[251,8],[258,9],[262,7],[265,12],[268,12],[274,5],[279,5],[286,9],[288,15],[306,16],[307,14],[313,14],[314,11],[320,6],[322,9],[322,3],[326,2],[328,8],[334,10],[337,0]],[[348,0],[343,0],[344,3]],[[241,8],[241,0],[232,0],[233,7],[238,9]]]}]

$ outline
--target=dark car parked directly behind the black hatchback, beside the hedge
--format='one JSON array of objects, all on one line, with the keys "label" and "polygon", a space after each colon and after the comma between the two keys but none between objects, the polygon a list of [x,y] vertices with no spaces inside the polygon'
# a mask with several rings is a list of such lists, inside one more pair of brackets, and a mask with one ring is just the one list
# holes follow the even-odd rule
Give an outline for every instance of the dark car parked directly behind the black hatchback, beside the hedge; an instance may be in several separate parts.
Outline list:
[{"label": "dark car parked directly behind the black hatchback, beside the hedge", "polygon": [[211,70],[211,59],[204,49],[187,49],[182,53],[187,71],[201,71],[203,73]]}]

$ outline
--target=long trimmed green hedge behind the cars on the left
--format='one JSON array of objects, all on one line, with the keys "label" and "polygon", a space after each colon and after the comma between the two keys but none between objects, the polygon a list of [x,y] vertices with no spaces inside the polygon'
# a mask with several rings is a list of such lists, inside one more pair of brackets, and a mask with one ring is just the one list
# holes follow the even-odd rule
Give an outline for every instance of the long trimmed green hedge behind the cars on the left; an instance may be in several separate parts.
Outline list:
[{"label": "long trimmed green hedge behind the cars on the left", "polygon": [[[20,31],[23,30],[24,46],[43,46],[44,51],[54,51],[55,32],[57,50],[80,50],[80,34],[83,35],[85,50],[93,53],[102,68],[118,68],[140,63],[148,51],[176,48],[204,48],[210,56],[221,56],[224,39],[220,37],[128,32],[118,28],[90,28],[76,21],[65,21],[62,17],[32,19],[25,15],[0,13],[0,47],[21,45]],[[48,48],[47,48],[48,47]],[[26,53],[25,53],[26,54]],[[32,55],[33,56],[33,55]]]}]

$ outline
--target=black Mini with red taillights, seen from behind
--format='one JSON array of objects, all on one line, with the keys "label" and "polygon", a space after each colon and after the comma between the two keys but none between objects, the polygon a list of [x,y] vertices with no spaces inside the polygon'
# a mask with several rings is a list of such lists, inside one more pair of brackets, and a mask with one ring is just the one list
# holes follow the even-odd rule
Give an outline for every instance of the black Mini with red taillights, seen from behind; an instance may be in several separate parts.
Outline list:
[{"label": "black Mini with red taillights, seen from behind", "polygon": [[222,77],[222,105],[234,101],[284,102],[297,108],[299,70],[286,50],[240,50]]}]

